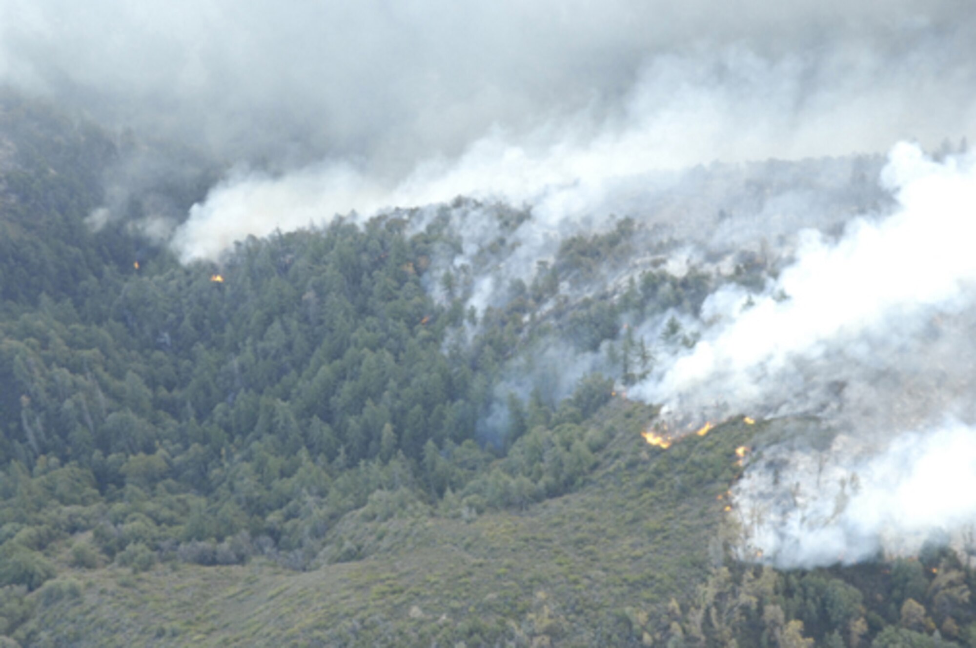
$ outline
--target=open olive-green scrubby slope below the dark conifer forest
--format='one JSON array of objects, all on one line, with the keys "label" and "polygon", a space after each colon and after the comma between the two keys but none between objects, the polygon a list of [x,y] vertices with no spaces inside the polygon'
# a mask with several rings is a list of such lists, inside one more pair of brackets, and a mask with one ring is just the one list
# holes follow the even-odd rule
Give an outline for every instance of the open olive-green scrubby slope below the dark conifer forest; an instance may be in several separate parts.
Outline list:
[{"label": "open olive-green scrubby slope below the dark conifer forest", "polygon": [[603,410],[599,425],[615,431],[573,494],[470,521],[429,510],[363,521],[362,534],[396,542],[305,573],[264,559],[159,564],[139,575],[67,569],[59,581],[74,579],[80,595],[52,595],[50,584],[36,592],[37,613],[21,638],[92,646],[646,642],[663,628],[671,596],[690,595],[720,555],[724,502],[716,497],[737,471],[734,448],[754,431],[720,425],[661,451],[637,434],[651,413],[620,402]]}]

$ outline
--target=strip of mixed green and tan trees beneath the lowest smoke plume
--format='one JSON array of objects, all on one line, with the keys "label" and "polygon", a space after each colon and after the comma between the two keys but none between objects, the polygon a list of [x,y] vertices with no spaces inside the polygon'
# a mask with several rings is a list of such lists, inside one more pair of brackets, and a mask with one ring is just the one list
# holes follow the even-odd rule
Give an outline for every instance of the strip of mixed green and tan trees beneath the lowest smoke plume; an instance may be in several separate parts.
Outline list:
[{"label": "strip of mixed green and tan trees beneath the lowest smoke plume", "polygon": [[[971,577],[957,569],[951,549],[939,554],[940,566],[927,572],[916,568],[917,559],[812,572],[734,564],[731,571],[712,573],[697,597],[705,601],[712,626],[699,625],[689,613],[681,627],[686,635],[734,637],[739,645],[782,644],[791,624],[816,645],[971,645]],[[906,591],[919,598],[903,598]],[[716,626],[718,619],[725,621]]]}]

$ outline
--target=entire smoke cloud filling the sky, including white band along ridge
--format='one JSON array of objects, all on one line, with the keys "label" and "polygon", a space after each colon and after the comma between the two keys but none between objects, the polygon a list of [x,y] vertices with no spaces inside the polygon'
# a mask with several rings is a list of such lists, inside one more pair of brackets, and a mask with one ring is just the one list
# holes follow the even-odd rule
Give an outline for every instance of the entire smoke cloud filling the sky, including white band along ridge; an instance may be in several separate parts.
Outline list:
[{"label": "entire smoke cloud filling the sky, including white band along ridge", "polygon": [[[0,80],[244,166],[184,259],[275,227],[450,200],[605,215],[619,179],[958,138],[957,0],[0,2]],[[248,171],[248,168],[259,169]],[[251,205],[255,205],[251,209]]]}]

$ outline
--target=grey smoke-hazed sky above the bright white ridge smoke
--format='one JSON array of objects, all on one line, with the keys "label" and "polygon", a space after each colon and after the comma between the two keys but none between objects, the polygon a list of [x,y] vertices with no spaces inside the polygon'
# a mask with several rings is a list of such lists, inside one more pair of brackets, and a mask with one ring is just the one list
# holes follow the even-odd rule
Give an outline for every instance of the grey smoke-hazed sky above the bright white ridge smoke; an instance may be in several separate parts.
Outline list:
[{"label": "grey smoke-hazed sky above the bright white ridge smoke", "polygon": [[396,178],[493,128],[515,142],[626,131],[743,74],[747,122],[817,127],[798,153],[884,150],[971,125],[973,13],[964,0],[0,0],[0,79],[226,156],[343,158]]}]

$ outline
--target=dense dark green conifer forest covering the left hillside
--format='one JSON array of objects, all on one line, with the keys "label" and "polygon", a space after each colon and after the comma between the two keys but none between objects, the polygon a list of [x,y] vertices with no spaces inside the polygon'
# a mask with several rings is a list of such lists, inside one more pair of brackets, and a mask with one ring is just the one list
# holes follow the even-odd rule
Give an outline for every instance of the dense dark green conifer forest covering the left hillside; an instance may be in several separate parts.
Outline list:
[{"label": "dense dark green conifer forest covering the left hillside", "polygon": [[[99,199],[51,206],[76,226],[52,224],[45,240],[96,247],[80,222]],[[314,555],[386,479],[378,470],[430,495],[465,483],[441,453],[473,437],[517,332],[505,315],[447,355],[457,318],[421,285],[432,234],[386,224],[250,239],[224,283],[164,252],[138,274],[96,255],[101,274],[41,295],[40,308],[0,311],[0,522],[82,507],[58,531],[94,529],[102,553],[137,569],[142,547],[245,532]],[[107,518],[83,512],[98,504]]]}]

